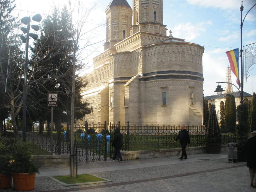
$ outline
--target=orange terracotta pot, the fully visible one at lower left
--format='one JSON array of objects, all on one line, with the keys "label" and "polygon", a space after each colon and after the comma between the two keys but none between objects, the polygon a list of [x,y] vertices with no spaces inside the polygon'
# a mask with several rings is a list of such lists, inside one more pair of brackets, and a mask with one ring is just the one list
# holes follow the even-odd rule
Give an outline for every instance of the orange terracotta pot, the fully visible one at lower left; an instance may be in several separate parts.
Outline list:
[{"label": "orange terracotta pot, the fully visible one at lower left", "polygon": [[14,173],[13,186],[16,191],[30,191],[35,188],[36,173],[29,175],[28,173]]}]

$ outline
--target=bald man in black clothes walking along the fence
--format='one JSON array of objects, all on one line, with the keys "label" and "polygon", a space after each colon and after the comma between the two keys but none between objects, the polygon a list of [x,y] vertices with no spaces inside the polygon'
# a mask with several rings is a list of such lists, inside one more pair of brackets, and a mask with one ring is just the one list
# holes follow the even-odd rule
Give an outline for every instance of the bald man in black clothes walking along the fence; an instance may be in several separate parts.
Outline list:
[{"label": "bald man in black clothes walking along the fence", "polygon": [[181,148],[182,148],[181,157],[179,159],[180,160],[187,159],[188,157],[187,157],[187,153],[186,153],[186,146],[187,146],[187,144],[190,144],[190,138],[189,138],[188,131],[185,129],[184,125],[181,125],[181,131],[179,131],[179,134],[177,135],[174,142],[176,143],[176,141],[178,141],[178,140],[180,141]]}]

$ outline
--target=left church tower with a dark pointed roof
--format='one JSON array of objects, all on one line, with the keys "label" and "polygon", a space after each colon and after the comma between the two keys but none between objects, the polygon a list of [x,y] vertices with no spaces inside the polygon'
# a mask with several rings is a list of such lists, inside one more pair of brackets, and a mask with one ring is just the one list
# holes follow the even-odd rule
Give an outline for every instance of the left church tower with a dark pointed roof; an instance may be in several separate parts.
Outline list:
[{"label": "left church tower with a dark pointed roof", "polygon": [[105,10],[107,16],[107,42],[104,50],[114,49],[114,45],[128,36],[132,25],[132,9],[126,0],[112,0]]}]

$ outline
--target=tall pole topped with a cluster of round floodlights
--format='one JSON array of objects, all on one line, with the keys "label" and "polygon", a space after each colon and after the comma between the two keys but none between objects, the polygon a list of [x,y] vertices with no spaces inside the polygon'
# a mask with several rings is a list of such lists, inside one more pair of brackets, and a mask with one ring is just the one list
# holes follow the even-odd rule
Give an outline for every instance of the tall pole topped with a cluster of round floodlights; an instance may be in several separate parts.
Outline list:
[{"label": "tall pole topped with a cluster of round floodlights", "polygon": [[[40,14],[36,14],[32,17],[33,21],[40,22],[42,16]],[[29,36],[32,37],[34,40],[38,38],[38,35],[29,33],[29,23],[30,23],[30,16],[23,17],[21,19],[21,23],[27,25],[27,27],[21,27],[21,31],[25,34],[27,33],[26,37],[23,35],[20,36],[23,43],[26,43],[26,55],[25,55],[25,65],[24,65],[24,85],[23,85],[23,116],[22,116],[22,136],[23,141],[26,141],[26,105],[27,105],[27,73],[28,73],[28,40]],[[38,25],[31,25],[31,28],[35,31],[39,30]]]}]

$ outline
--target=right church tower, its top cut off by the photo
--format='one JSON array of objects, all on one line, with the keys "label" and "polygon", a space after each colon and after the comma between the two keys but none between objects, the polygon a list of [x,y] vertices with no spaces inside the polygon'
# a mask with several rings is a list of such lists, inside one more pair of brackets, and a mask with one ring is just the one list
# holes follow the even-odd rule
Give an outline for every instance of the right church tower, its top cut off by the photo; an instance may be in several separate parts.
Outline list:
[{"label": "right church tower, its top cut off by the photo", "polygon": [[133,26],[130,35],[138,31],[166,35],[163,24],[163,0],[133,0]]}]

